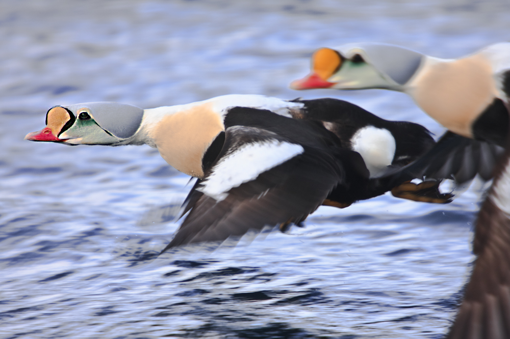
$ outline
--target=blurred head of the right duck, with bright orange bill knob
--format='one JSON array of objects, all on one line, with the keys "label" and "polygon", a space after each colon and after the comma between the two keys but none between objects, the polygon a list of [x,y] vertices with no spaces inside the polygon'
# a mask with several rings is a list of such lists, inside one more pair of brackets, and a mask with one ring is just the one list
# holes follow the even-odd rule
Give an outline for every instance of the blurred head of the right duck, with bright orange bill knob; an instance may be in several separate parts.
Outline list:
[{"label": "blurred head of the right duck, with bright orange bill knob", "polygon": [[381,43],[346,44],[319,48],[312,55],[311,73],[290,84],[294,90],[369,88],[403,91],[424,55]]}]

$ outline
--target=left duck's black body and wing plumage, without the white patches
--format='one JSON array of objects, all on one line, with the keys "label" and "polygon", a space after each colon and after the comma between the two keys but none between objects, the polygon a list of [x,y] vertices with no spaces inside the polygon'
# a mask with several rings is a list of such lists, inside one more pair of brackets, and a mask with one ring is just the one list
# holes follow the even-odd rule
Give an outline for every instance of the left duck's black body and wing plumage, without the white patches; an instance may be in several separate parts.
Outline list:
[{"label": "left duck's black body and wing plumage, without the white patches", "polygon": [[[350,149],[352,135],[369,124],[387,128],[395,136],[395,166],[416,160],[435,144],[420,125],[386,121],[345,101],[298,102],[305,107],[292,111],[294,119],[263,109],[228,109],[225,132],[203,157],[205,177],[197,181],[184,204],[184,213],[189,214],[163,252],[188,243],[222,241],[266,225],[297,224],[326,199],[348,206],[384,194],[398,185],[396,181],[413,179],[406,175],[397,180],[393,175],[369,178],[363,158]],[[300,145],[303,152],[231,188],[221,201],[200,191],[222,159],[244,145],[270,140]]]}]

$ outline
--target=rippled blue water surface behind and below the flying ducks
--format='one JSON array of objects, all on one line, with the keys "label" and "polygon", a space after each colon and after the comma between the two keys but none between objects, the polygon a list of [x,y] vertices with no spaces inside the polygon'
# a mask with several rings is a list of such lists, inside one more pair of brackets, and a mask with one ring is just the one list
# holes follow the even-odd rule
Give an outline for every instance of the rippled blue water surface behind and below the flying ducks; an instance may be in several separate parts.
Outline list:
[{"label": "rippled blue water surface behind and below the flying ducks", "polygon": [[289,234],[154,259],[191,188],[149,147],[23,140],[49,107],[231,93],[332,96],[440,135],[405,95],[288,89],[321,46],[454,58],[508,40],[506,1],[0,3],[0,337],[439,338],[470,271],[482,196],[321,207]]}]

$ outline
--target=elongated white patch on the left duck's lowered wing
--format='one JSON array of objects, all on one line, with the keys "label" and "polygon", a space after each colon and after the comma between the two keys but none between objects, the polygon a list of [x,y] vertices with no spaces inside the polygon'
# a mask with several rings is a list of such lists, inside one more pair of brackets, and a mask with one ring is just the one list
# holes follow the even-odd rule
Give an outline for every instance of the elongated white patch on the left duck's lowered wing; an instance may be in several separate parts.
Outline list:
[{"label": "elongated white patch on the left duck's lowered wing", "polygon": [[242,145],[234,153],[220,159],[197,190],[222,201],[230,189],[256,179],[261,173],[303,152],[300,145],[275,139]]}]

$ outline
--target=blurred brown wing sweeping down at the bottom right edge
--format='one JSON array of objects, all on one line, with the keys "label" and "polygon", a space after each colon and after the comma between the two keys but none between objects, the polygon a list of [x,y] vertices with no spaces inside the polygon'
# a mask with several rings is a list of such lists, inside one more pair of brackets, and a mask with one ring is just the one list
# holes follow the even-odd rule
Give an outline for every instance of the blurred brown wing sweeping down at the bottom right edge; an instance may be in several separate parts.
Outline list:
[{"label": "blurred brown wing sweeping down at the bottom right edge", "polygon": [[473,252],[478,256],[449,339],[510,338],[510,161],[483,203]]}]

